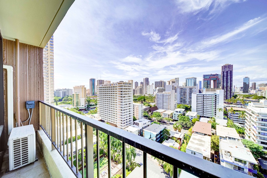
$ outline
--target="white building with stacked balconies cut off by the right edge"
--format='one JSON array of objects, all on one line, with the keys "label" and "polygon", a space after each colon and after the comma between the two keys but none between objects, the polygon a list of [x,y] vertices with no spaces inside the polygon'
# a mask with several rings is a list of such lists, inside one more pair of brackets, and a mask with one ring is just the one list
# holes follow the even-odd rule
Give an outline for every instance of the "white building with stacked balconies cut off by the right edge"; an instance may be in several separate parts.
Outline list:
[{"label": "white building with stacked balconies cut off by the right edge", "polygon": [[266,126],[267,125],[267,100],[258,103],[248,103],[245,120],[245,138],[267,151]]}]

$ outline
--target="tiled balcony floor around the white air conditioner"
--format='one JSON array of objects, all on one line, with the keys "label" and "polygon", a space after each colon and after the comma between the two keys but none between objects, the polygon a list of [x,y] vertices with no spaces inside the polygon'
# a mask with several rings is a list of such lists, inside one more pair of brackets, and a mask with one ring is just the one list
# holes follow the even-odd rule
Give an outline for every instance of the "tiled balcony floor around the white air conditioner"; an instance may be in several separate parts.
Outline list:
[{"label": "tiled balcony floor around the white air conditioner", "polygon": [[3,165],[1,168],[1,178],[50,178],[50,174],[47,170],[38,142],[36,142],[36,158],[38,158],[38,161],[35,161],[34,163],[30,163],[13,171],[7,171],[7,169],[9,169],[9,155],[7,150],[4,154]]}]

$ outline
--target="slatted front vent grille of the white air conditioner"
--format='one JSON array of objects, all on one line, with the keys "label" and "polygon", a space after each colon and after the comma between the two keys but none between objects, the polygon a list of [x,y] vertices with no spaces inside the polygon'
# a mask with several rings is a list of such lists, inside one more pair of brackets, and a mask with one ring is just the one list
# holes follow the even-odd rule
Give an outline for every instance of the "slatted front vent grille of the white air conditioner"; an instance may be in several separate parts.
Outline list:
[{"label": "slatted front vent grille of the white air conditioner", "polygon": [[13,141],[14,168],[28,163],[28,137]]}]

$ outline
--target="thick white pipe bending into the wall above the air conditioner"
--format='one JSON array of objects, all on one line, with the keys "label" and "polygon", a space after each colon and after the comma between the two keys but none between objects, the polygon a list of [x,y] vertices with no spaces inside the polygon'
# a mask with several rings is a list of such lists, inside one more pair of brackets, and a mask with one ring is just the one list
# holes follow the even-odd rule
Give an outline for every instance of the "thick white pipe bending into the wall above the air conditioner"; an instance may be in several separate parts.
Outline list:
[{"label": "thick white pipe bending into the wall above the air conditioner", "polygon": [[14,125],[13,67],[8,65],[3,65],[3,69],[7,69],[7,128],[9,135]]}]

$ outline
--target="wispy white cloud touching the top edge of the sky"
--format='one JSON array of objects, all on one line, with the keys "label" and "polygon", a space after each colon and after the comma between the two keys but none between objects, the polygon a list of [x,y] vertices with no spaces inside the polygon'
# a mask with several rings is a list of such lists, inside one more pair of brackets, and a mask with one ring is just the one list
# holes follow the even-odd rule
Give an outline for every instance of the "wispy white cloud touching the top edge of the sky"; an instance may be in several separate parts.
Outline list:
[{"label": "wispy white cloud touching the top edge of the sky", "polygon": [[246,0],[177,0],[177,7],[182,13],[198,13],[208,11],[211,13],[220,11],[232,3],[244,2]]}]

